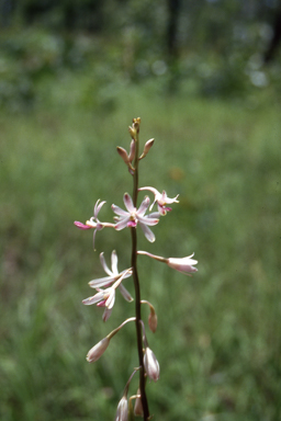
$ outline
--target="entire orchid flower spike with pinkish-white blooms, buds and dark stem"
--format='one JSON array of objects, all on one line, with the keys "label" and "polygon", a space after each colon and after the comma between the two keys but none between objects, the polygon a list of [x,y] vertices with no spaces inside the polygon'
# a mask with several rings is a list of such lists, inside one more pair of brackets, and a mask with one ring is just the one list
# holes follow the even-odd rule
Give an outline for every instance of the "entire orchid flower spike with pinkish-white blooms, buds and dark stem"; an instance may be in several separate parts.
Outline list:
[{"label": "entire orchid flower spike with pinkish-white blooms, buds and dark stem", "polygon": [[[148,346],[145,323],[142,320],[142,304],[146,304],[149,306],[150,312],[148,317],[148,327],[153,332],[155,332],[157,329],[157,315],[154,306],[149,301],[140,299],[140,286],[137,273],[137,255],[147,255],[148,258],[166,263],[168,266],[188,275],[191,275],[191,273],[196,272],[196,268],[194,268],[194,265],[198,263],[196,260],[192,259],[194,253],[186,258],[166,259],[159,255],[151,254],[147,251],[137,250],[137,225],[139,225],[139,227],[142,228],[146,239],[149,242],[154,242],[155,235],[151,231],[150,227],[157,225],[159,223],[160,217],[167,215],[167,213],[171,210],[171,207],[167,205],[179,203],[178,195],[173,198],[170,198],[168,197],[165,191],[160,193],[158,192],[158,190],[151,186],[138,187],[139,160],[146,157],[151,146],[154,145],[154,139],[149,139],[144,146],[143,153],[139,155],[139,124],[140,118],[134,118],[132,126],[128,127],[128,132],[132,137],[130,153],[127,153],[124,148],[117,147],[119,155],[127,166],[130,174],[133,177],[133,197],[131,197],[128,193],[125,193],[123,196],[126,209],[123,209],[112,204],[111,207],[115,214],[113,218],[114,223],[102,223],[98,218],[98,215],[105,202],[101,202],[100,200],[98,200],[94,205],[93,216],[89,220],[87,220],[86,224],[75,221],[75,225],[80,229],[93,229],[93,248],[95,242],[95,235],[103,228],[114,228],[114,230],[116,231],[120,231],[124,228],[130,228],[131,230],[132,259],[128,268],[119,272],[117,254],[116,251],[113,250],[111,254],[110,270],[102,252],[100,254],[100,261],[104,272],[106,273],[106,276],[90,281],[89,285],[91,288],[95,289],[95,294],[82,300],[82,303],[87,306],[97,304],[98,307],[103,307],[104,312],[102,319],[103,321],[106,321],[113,310],[116,289],[120,291],[121,295],[126,301],[131,303],[134,300],[130,292],[123,285],[123,283],[125,283],[125,280],[131,276],[133,277],[135,289],[135,316],[126,319],[116,329],[114,329],[111,333],[109,333],[105,338],[98,342],[88,352],[87,355],[87,361],[90,363],[99,360],[109,346],[111,339],[123,328],[123,326],[130,321],[135,321],[138,365],[137,368],[133,371],[125,386],[123,396],[117,406],[115,421],[126,421],[128,420],[128,418],[133,419],[134,416],[143,417],[145,421],[150,419],[146,396],[146,378],[157,382],[160,375],[159,363],[154,352]],[[150,198],[148,196],[145,196],[139,207],[137,207],[138,192],[143,191],[151,193],[154,195],[154,201],[150,204]],[[157,212],[151,212],[154,205],[157,205]],[[127,400],[130,383],[136,372],[139,373],[139,384],[137,394],[131,396],[130,400]],[[134,409],[132,405],[133,399],[135,399]]]}]

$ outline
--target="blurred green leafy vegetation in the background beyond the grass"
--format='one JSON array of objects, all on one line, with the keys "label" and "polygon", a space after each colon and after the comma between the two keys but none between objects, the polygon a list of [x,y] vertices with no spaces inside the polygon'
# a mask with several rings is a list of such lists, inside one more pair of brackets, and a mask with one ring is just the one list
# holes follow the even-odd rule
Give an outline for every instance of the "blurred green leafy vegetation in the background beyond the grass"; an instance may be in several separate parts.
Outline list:
[{"label": "blurred green leafy vegetation in the background beyond the grass", "polygon": [[0,33],[0,105],[10,111],[36,106],[71,78],[79,87],[67,102],[99,110],[117,106],[120,86],[130,83],[211,98],[281,89],[278,46],[265,65],[281,13],[273,0],[12,4],[2,2]]}]

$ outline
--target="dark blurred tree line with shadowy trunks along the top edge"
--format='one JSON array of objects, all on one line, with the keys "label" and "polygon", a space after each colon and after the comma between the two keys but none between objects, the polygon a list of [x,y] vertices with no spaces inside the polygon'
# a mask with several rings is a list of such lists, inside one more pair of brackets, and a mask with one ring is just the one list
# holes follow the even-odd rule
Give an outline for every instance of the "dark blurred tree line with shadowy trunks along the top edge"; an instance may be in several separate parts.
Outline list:
[{"label": "dark blurred tree line with shadowy trunks along the top edge", "polygon": [[[189,16],[192,35],[196,36],[214,27],[216,38],[222,38],[223,26],[228,29],[235,21],[268,22],[273,36],[265,53],[266,62],[274,58],[280,45],[281,0],[0,0],[0,24],[2,27],[10,25],[16,16],[18,21],[20,19],[26,25],[36,23],[66,31],[103,33],[119,25],[144,24],[144,18],[139,18],[140,12],[147,20],[146,26],[150,26],[151,38],[155,38],[158,21],[161,21],[159,13],[162,11],[166,14],[162,44],[171,61],[179,55],[178,35],[182,14]],[[187,37],[187,42],[190,38]]]}]

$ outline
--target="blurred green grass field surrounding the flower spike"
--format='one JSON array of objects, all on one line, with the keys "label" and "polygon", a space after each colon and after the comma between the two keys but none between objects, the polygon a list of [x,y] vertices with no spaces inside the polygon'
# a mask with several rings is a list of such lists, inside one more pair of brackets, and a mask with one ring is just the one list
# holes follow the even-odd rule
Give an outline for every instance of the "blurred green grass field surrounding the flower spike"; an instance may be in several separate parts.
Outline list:
[{"label": "blurred green grass field surrounding the flower spike", "polygon": [[139,257],[143,297],[159,319],[148,335],[161,366],[159,382],[147,386],[151,412],[162,421],[279,420],[279,103],[260,95],[252,107],[252,99],[164,98],[123,87],[115,109],[101,113],[60,98],[0,117],[1,420],[114,417],[137,361],[133,326],[95,364],[85,356],[133,306],[117,297],[104,325],[81,299],[102,275],[101,251],[109,260],[116,249],[120,269],[127,266],[130,235],[104,229],[93,252],[91,232],[72,221],[89,218],[98,198],[108,202],[101,218],[112,220],[110,204],[122,205],[132,191],[115,146],[128,148],[134,116],[142,117],[142,141],[156,138],[140,184],[180,193],[154,228],[154,244],[139,232],[139,249],[194,251],[199,260],[199,272],[184,277]]}]

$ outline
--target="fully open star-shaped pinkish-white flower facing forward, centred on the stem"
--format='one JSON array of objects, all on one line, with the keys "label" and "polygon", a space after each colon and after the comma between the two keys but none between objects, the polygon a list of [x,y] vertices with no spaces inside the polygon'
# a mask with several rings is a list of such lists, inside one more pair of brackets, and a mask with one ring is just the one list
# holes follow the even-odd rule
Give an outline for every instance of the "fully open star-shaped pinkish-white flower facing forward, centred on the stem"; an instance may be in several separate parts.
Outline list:
[{"label": "fully open star-shaped pinkish-white flower facing forward, centred on the stem", "polygon": [[116,221],[115,229],[119,231],[125,227],[136,227],[138,223],[147,240],[154,242],[155,235],[148,226],[158,224],[160,215],[157,212],[145,215],[150,203],[149,197],[146,196],[144,198],[138,209],[134,206],[132,197],[128,193],[124,194],[123,201],[127,210],[124,210],[116,205],[111,206],[112,210],[117,215],[114,218]]}]

